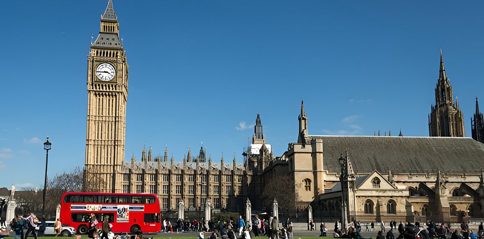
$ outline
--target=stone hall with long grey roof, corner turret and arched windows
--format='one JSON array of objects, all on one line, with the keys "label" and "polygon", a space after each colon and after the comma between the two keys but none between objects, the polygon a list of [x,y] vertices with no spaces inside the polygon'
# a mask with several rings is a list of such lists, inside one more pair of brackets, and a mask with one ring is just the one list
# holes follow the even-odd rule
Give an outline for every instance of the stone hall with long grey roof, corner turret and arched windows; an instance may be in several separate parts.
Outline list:
[{"label": "stone hall with long grey roof, corner turret and arched windows", "polygon": [[[314,136],[301,105],[298,142],[277,158],[314,217],[457,222],[484,216],[484,144],[470,138]],[[340,179],[338,159],[349,175]],[[270,164],[265,172],[275,166]]]}]

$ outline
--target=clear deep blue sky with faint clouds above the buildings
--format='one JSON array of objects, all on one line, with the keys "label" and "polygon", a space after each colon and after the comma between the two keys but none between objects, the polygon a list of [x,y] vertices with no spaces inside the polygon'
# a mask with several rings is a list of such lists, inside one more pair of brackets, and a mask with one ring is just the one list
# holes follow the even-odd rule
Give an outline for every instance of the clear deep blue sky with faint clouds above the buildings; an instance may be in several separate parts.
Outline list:
[{"label": "clear deep blue sky with faint clouds above the buildings", "polygon": [[[0,187],[84,165],[90,36],[107,0],[0,1]],[[440,48],[466,135],[484,100],[483,1],[114,0],[130,65],[126,159],[200,141],[242,161],[261,114],[276,156],[312,135],[428,136]],[[241,127],[244,126],[244,127]]]}]

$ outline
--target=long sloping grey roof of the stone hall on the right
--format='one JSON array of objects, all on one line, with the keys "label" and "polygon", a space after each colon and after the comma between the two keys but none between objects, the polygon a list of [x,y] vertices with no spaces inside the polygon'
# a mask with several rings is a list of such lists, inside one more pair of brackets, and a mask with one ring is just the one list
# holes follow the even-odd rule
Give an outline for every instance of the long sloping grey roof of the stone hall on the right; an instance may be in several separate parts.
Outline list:
[{"label": "long sloping grey roof of the stone hall on the right", "polygon": [[471,138],[309,136],[323,140],[323,167],[339,173],[338,159],[348,148],[357,174],[380,173],[480,173],[484,169],[484,144]]}]

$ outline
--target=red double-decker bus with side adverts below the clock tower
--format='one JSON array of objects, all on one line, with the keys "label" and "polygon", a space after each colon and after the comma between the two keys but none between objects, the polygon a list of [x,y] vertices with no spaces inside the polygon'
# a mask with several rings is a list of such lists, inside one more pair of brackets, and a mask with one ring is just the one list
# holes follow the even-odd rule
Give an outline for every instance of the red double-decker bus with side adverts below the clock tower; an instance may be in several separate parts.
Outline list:
[{"label": "red double-decker bus with side adverts below the clock tower", "polygon": [[161,231],[160,204],[155,194],[65,193],[62,197],[61,223],[76,228],[77,234],[88,233],[91,213],[99,222],[108,216],[113,233]]}]

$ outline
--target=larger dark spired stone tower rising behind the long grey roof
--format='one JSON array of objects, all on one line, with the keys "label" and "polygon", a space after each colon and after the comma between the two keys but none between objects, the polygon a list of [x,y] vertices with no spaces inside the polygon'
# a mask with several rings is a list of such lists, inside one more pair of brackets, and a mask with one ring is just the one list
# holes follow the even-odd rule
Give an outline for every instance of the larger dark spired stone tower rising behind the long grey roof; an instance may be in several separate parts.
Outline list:
[{"label": "larger dark spired stone tower rising behind the long grey roof", "polygon": [[442,50],[440,50],[439,80],[435,88],[435,106],[432,105],[430,108],[430,137],[465,137],[462,111],[457,98],[454,103],[452,85],[445,74]]}]

